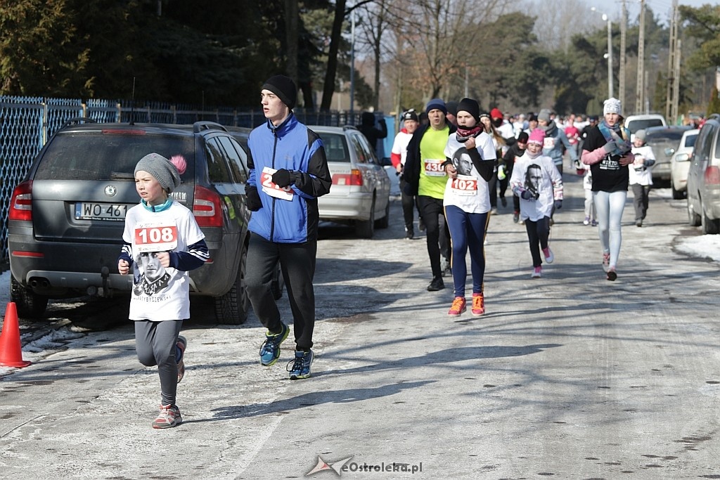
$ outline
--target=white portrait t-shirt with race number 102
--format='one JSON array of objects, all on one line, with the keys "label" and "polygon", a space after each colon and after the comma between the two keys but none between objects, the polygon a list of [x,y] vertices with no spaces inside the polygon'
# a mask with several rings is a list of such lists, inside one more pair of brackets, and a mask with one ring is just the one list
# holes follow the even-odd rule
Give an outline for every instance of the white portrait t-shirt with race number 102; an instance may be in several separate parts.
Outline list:
[{"label": "white portrait t-shirt with race number 102", "polygon": [[[490,135],[485,132],[477,135],[475,148],[480,153],[481,161],[494,163],[497,155]],[[490,189],[488,189],[487,181],[480,176],[472,163],[465,144],[458,142],[457,136],[452,134],[448,137],[444,153],[452,161],[458,175],[457,178],[448,178],[443,204],[445,206],[454,205],[467,213],[490,212]]]}]

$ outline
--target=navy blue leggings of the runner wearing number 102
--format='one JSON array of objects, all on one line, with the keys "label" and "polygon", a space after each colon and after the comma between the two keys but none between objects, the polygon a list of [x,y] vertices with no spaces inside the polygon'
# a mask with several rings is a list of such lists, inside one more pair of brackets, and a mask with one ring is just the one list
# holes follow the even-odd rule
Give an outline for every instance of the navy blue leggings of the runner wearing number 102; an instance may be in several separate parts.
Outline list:
[{"label": "navy blue leggings of the runner wearing number 102", "polygon": [[465,254],[470,250],[470,270],[472,271],[472,293],[482,293],[482,277],[485,276],[485,232],[490,215],[485,213],[467,213],[459,207],[445,207],[445,219],[450,230],[452,248],[451,268],[455,296],[465,296],[467,263]]}]

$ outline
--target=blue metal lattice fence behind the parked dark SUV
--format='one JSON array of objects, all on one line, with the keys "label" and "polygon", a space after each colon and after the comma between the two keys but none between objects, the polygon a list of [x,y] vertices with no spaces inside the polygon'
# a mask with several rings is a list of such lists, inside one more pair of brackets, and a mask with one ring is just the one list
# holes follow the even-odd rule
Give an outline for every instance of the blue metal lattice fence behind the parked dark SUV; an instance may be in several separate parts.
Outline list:
[{"label": "blue metal lattice fence behind the parked dark SUV", "polygon": [[[359,124],[359,112],[316,112],[294,109],[301,122],[339,126]],[[197,105],[89,99],[48,99],[0,96],[0,270],[9,261],[7,215],[14,186],[19,184],[32,160],[50,137],[69,119],[86,117],[101,123],[137,122],[192,124],[209,120],[233,127],[256,127],[264,122],[261,109],[204,108]]]}]

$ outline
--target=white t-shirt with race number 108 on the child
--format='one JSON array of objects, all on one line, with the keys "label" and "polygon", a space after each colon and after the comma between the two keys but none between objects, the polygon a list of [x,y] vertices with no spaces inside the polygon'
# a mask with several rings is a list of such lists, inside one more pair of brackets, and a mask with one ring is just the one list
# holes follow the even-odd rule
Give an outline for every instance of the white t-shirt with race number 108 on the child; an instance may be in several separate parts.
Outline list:
[{"label": "white t-shirt with race number 108 on the child", "polygon": [[162,212],[150,212],[142,204],[127,211],[122,240],[132,248],[130,320],[190,318],[189,273],[158,266],[153,253],[186,251],[203,238],[192,212],[177,201]]}]

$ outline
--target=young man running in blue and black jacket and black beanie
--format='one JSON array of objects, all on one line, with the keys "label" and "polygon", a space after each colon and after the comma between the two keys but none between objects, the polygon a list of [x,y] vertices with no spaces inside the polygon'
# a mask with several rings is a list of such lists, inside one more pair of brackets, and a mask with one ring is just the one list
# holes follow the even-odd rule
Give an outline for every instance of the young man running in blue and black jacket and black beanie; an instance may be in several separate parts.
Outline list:
[{"label": "young man running in blue and black jacket and black beanie", "polygon": [[273,76],[260,95],[267,121],[248,138],[246,194],[253,214],[245,280],[253,310],[267,328],[260,363],[271,366],[289,334],[271,291],[272,273],[280,262],[296,345],[288,371],[292,380],[307,379],[315,327],[312,277],[318,253],[318,197],[330,191],[332,178],[322,140],[292,113],[297,100],[292,79]]}]

